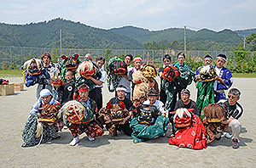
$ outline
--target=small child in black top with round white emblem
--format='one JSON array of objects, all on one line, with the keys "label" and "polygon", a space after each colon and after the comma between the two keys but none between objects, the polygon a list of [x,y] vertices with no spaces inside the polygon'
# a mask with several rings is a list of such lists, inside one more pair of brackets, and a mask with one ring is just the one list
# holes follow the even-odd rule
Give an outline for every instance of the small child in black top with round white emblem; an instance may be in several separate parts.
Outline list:
[{"label": "small child in black top with round white emblem", "polygon": [[65,104],[70,100],[73,100],[73,94],[75,92],[75,82],[73,81],[73,71],[67,70],[65,75],[66,82],[64,83],[63,95],[61,98],[61,104]]}]

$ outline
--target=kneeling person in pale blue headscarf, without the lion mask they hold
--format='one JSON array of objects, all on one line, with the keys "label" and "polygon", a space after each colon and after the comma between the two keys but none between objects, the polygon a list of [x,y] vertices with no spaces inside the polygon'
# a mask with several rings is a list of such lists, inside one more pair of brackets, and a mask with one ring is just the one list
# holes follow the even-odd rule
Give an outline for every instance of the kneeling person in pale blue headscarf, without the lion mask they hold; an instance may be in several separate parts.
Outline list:
[{"label": "kneeling person in pale blue headscarf, without the lion mask they hold", "polygon": [[[38,98],[38,101],[32,106],[32,109],[30,110],[30,113],[28,115],[28,119],[26,121],[26,125],[22,133],[22,139],[24,143],[21,145],[21,147],[35,146],[40,142],[46,143],[49,142],[51,139],[61,137],[57,133],[57,131],[61,130],[62,126],[56,125],[56,123],[59,122],[59,120],[57,120],[56,117],[54,117],[55,120],[53,120],[53,122],[50,123],[39,120],[42,111],[44,111],[44,107],[53,105],[56,108],[60,107],[61,104],[55,101],[55,99],[52,96],[52,93],[48,89],[41,90],[39,95],[40,97]],[[55,109],[55,113],[57,112],[57,109],[58,108]],[[44,129],[42,128],[43,125]],[[41,127],[41,133],[38,132],[39,134],[35,132],[38,126]],[[38,136],[36,133],[38,134]]]}]

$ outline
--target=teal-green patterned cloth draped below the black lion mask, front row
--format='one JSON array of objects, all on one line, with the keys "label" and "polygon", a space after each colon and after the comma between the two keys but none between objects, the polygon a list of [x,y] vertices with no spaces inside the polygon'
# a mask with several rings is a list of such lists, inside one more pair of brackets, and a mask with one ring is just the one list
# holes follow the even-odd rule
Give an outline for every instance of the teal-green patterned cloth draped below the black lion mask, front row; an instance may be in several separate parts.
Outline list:
[{"label": "teal-green patterned cloth draped below the black lion mask, front row", "polygon": [[163,115],[157,117],[153,126],[139,124],[137,117],[132,119],[130,127],[133,130],[131,134],[133,143],[141,143],[155,137],[163,136],[167,132],[167,124],[168,118]]}]

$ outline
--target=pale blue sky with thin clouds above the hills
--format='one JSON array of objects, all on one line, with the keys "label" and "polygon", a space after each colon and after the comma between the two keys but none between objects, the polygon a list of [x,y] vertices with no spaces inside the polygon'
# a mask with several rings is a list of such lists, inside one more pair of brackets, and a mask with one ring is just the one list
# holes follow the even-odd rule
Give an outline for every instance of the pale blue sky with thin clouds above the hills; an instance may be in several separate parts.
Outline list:
[{"label": "pale blue sky with thin clouds above the hills", "polygon": [[233,31],[256,28],[255,0],[0,0],[0,22],[25,25],[62,18],[102,29],[132,25]]}]

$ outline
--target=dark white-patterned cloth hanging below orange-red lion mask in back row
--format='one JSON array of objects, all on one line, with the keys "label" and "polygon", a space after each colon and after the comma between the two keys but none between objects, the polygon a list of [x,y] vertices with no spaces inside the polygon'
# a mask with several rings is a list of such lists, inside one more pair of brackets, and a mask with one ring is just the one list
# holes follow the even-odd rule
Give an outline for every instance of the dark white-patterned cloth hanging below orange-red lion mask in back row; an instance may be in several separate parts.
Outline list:
[{"label": "dark white-patterned cloth hanging below orange-red lion mask in back row", "polygon": [[175,81],[167,81],[166,79],[162,79],[161,87],[165,88],[166,92],[166,109],[170,109],[173,104],[173,95],[176,91]]}]

